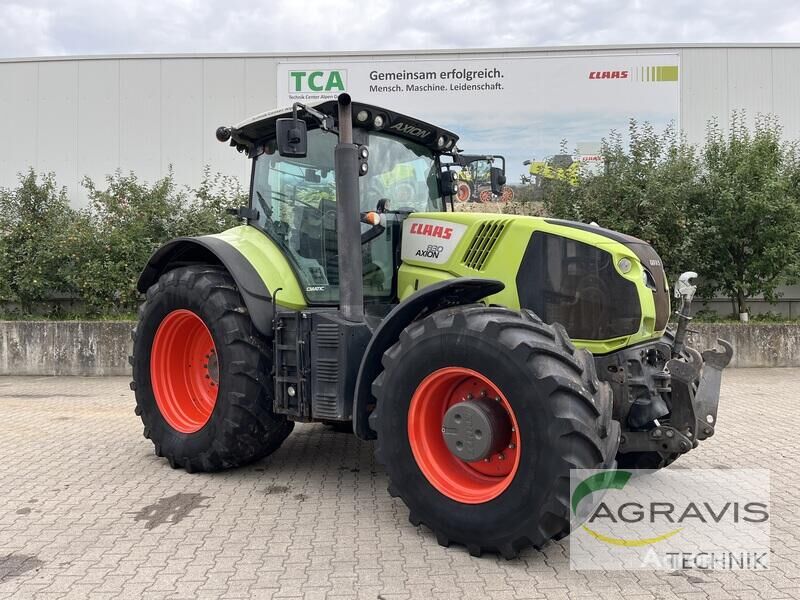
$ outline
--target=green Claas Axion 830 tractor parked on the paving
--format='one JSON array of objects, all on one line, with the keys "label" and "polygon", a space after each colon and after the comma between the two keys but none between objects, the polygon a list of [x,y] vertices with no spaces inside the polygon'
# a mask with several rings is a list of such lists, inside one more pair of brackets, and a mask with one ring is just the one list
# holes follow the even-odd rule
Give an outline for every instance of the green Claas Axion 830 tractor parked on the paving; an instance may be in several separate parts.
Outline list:
[{"label": "green Claas Axion 830 tractor parked on the paving", "polygon": [[570,469],[659,468],[714,433],[731,348],[685,345],[692,274],[665,331],[647,243],[453,212],[455,171],[491,157],[345,94],[217,138],[252,160],[244,224],[167,243],[138,283],[131,387],[173,467],[257,461],[295,422],[351,427],[414,525],[513,557],[569,533]]}]

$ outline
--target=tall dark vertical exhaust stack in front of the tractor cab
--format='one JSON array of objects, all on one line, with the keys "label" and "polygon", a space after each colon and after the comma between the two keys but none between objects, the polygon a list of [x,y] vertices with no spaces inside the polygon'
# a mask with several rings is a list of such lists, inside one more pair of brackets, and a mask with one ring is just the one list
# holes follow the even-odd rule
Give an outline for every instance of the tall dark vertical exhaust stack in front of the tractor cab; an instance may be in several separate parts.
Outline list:
[{"label": "tall dark vertical exhaust stack in front of the tractor cab", "polygon": [[364,282],[361,264],[361,218],[358,191],[358,146],[353,143],[353,107],[340,94],[339,143],[334,151],[336,170],[336,238],[339,249],[339,307],[351,322],[364,321]]}]

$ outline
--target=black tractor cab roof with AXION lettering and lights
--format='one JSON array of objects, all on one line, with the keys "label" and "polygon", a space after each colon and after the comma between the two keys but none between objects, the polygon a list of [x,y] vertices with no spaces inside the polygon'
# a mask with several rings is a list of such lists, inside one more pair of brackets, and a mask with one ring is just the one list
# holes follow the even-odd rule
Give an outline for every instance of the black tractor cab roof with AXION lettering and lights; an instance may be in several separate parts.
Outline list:
[{"label": "black tractor cab roof with AXION lettering and lights", "polygon": [[[332,116],[338,121],[338,103],[336,100],[309,102],[306,103],[306,106]],[[354,101],[352,107],[353,127],[370,131],[385,131],[390,135],[396,135],[422,144],[434,152],[455,151],[458,136],[442,127],[372,104]],[[366,113],[366,118],[364,118],[364,113]],[[275,121],[277,119],[291,116],[292,107],[287,107],[270,110],[245,119],[230,128],[230,144],[239,151],[252,154],[257,145],[275,136]],[[359,116],[363,120],[360,120]],[[380,127],[375,126],[375,117],[378,116],[383,120]],[[303,119],[309,129],[319,127],[319,122],[302,109],[298,110],[298,118]],[[336,126],[338,127],[338,122]],[[440,138],[443,140],[442,144],[439,143]]]}]

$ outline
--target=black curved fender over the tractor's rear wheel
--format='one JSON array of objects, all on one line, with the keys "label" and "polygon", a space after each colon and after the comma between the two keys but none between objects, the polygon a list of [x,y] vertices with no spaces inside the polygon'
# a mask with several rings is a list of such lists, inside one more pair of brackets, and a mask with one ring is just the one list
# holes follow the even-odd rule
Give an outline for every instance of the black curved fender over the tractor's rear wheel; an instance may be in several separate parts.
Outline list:
[{"label": "black curved fender over the tractor's rear wheel", "polygon": [[264,280],[241,252],[217,237],[181,237],[167,242],[147,261],[136,288],[145,293],[167,271],[190,264],[224,266],[236,282],[255,328],[272,337],[272,296]]}]

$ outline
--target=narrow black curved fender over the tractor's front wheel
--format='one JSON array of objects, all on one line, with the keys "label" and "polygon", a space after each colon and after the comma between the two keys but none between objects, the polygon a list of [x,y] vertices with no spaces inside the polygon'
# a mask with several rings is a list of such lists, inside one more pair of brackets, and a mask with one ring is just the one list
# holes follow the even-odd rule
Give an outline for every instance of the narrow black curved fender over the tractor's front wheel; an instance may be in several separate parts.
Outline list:
[{"label": "narrow black curved fender over the tractor's front wheel", "polygon": [[400,332],[420,316],[446,308],[472,304],[503,290],[496,279],[458,277],[429,285],[413,293],[381,321],[361,359],[353,398],[353,431],[362,440],[375,439],[368,418],[375,405],[372,382],[380,374],[383,354],[397,341]]}]

